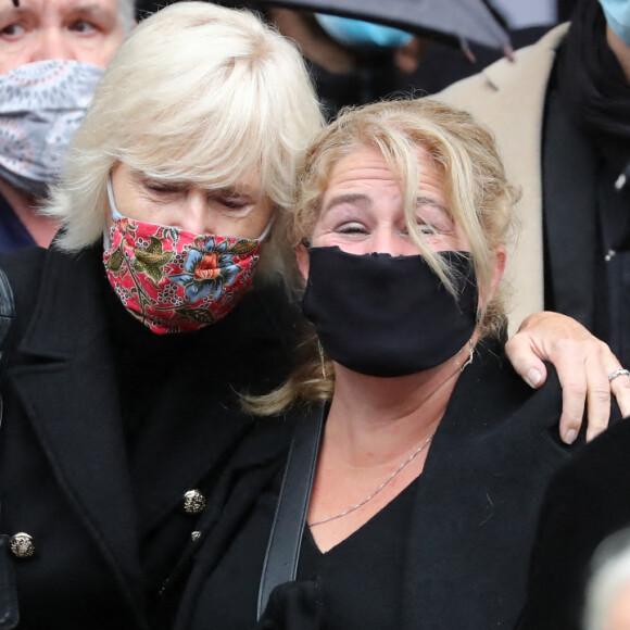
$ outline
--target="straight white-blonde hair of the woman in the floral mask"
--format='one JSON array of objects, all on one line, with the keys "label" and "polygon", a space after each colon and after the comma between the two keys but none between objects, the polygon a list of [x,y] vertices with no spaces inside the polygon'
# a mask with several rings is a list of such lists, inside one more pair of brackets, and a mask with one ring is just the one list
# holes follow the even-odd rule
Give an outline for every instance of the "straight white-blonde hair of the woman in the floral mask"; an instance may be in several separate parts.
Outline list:
[{"label": "straight white-blonde hair of the woman in the floral mask", "polygon": [[294,264],[287,229],[295,173],[323,119],[295,47],[253,13],[178,2],[137,26],[103,75],[45,212],[60,247],[100,240],[106,182],[125,163],[161,181],[230,187],[259,173],[275,204],[259,268]]}]

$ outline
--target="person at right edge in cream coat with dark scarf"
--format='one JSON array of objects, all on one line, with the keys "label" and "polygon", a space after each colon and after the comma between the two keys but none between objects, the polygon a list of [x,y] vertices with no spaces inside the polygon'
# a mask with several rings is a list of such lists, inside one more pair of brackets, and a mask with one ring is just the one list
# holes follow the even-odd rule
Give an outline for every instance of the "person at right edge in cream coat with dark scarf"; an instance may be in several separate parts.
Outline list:
[{"label": "person at right edge in cream coat with dark scarf", "polygon": [[[610,10],[621,20],[607,20]],[[570,315],[622,365],[630,364],[628,22],[627,2],[580,0],[570,26],[439,94],[490,126],[522,187],[513,325],[542,308]]]}]

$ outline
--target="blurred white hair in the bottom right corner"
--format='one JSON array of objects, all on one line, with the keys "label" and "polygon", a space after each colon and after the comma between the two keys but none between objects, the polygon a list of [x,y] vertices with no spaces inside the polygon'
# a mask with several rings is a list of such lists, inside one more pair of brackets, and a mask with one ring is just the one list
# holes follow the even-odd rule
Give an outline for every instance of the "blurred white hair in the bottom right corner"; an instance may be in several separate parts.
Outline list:
[{"label": "blurred white hair in the bottom right corner", "polygon": [[630,529],[604,540],[593,556],[584,607],[584,630],[606,630],[608,615],[620,592],[630,585]]}]

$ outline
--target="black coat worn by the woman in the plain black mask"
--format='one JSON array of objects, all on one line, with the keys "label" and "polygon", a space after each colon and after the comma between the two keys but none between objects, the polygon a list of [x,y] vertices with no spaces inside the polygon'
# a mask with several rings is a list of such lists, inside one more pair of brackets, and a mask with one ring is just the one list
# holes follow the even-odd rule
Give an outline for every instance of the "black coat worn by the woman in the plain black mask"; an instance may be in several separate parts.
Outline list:
[{"label": "black coat worn by the woman in the plain black mask", "polygon": [[[488,349],[477,353],[457,381],[416,490],[402,630],[490,630],[516,621],[542,496],[570,453],[558,438],[559,415],[560,393],[553,376],[534,392],[504,356]],[[205,542],[177,630],[198,630],[193,619],[203,584],[227,554],[244,555],[260,576],[264,549],[232,551],[230,543],[286,458],[288,428],[269,423],[251,433],[235,455],[230,477],[226,474],[201,522]],[[249,610],[252,625],[256,595],[232,604]],[[203,628],[212,627],[213,619],[204,619]]]}]

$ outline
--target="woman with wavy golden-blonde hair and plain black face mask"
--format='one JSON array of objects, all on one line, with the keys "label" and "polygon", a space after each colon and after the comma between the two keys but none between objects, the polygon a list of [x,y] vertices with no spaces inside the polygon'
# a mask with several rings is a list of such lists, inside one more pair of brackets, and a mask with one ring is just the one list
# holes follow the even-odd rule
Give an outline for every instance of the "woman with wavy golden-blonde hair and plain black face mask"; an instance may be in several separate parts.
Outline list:
[{"label": "woman with wavy golden-blonde hair and plain black face mask", "polygon": [[568,457],[555,376],[532,391],[499,335],[515,198],[490,133],[436,101],[315,137],[293,238],[305,360],[248,403],[294,423],[234,455],[177,630],[512,627]]}]

